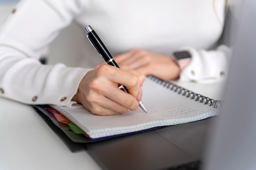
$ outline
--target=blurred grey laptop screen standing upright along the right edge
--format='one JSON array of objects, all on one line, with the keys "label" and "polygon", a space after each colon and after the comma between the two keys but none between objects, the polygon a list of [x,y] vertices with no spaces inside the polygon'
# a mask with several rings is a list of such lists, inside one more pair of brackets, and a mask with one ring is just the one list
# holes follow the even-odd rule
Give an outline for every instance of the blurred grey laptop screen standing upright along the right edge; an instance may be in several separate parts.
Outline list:
[{"label": "blurred grey laptop screen standing upright along the right edge", "polygon": [[223,110],[204,170],[256,170],[256,1],[243,0],[239,7]]}]

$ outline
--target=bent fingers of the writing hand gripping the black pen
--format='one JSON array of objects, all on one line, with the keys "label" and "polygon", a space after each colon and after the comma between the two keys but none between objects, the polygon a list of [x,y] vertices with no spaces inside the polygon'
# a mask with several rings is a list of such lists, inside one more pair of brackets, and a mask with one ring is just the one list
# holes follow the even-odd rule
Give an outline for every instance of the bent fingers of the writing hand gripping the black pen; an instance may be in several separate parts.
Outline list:
[{"label": "bent fingers of the writing hand gripping the black pen", "polygon": [[[124,65],[120,65],[120,68],[102,65],[97,72],[99,72],[99,75],[108,74],[104,75],[106,79],[103,84],[94,81],[91,88],[97,87],[94,90],[130,110],[138,108],[139,105],[136,99],[140,92],[139,86],[142,86],[145,80],[144,75]],[[126,86],[129,94],[117,88],[118,84]]]}]

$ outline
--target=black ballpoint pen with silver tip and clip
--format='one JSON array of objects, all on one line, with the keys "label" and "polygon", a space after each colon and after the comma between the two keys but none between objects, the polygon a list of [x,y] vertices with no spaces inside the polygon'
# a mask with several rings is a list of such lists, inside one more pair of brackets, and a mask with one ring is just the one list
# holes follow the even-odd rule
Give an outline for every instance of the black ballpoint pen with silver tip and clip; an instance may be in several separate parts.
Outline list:
[{"label": "black ballpoint pen with silver tip and clip", "polygon": [[[99,55],[101,55],[101,57],[109,65],[119,68],[119,66],[115,62],[114,58],[112,57],[112,55],[110,54],[110,52],[108,51],[106,46],[103,44],[103,42],[101,41],[101,39],[99,38],[97,33],[95,33],[95,31],[92,29],[92,27],[90,25],[86,26],[85,31],[87,33],[87,38],[91,42],[92,46],[94,46],[94,48],[98,51]],[[124,89],[128,93],[128,89],[126,88],[126,86],[124,86]],[[139,102],[139,107],[142,108],[142,110],[144,110],[144,112],[147,113],[147,110],[141,101]]]}]

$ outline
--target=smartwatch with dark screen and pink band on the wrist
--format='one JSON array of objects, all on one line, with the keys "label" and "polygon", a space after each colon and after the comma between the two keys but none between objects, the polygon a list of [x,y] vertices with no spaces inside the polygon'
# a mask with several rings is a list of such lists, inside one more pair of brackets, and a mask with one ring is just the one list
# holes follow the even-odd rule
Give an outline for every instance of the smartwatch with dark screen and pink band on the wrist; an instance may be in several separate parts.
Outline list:
[{"label": "smartwatch with dark screen and pink band on the wrist", "polygon": [[176,51],[173,52],[171,59],[180,67],[182,71],[191,61],[191,55],[189,51]]}]

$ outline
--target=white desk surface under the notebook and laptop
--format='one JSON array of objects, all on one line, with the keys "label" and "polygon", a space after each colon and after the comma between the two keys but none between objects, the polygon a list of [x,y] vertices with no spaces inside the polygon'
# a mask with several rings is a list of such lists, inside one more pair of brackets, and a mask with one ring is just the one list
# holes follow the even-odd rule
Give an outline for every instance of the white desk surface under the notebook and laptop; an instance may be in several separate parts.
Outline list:
[{"label": "white desk surface under the notebook and laptop", "polygon": [[[180,85],[221,99],[223,84]],[[31,106],[0,97],[0,121],[0,170],[101,170],[88,152],[72,153]]]}]

